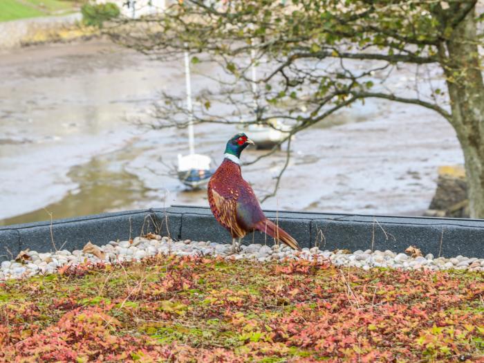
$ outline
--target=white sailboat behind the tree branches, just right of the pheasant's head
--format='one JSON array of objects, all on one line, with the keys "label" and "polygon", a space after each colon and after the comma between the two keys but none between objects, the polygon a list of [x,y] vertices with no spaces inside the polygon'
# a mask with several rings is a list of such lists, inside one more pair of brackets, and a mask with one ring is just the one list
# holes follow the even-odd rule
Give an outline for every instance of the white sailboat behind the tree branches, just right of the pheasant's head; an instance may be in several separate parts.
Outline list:
[{"label": "white sailboat behind the tree branches, just right of the pheasant's head", "polygon": [[[255,66],[255,50],[250,50],[252,61],[252,93],[257,93],[257,68]],[[258,105],[254,98],[254,112],[257,113]],[[250,135],[250,140],[254,141],[257,149],[272,149],[279,142],[288,137],[291,127],[273,118],[268,121],[271,126],[265,124],[240,125],[239,129]]]}]

